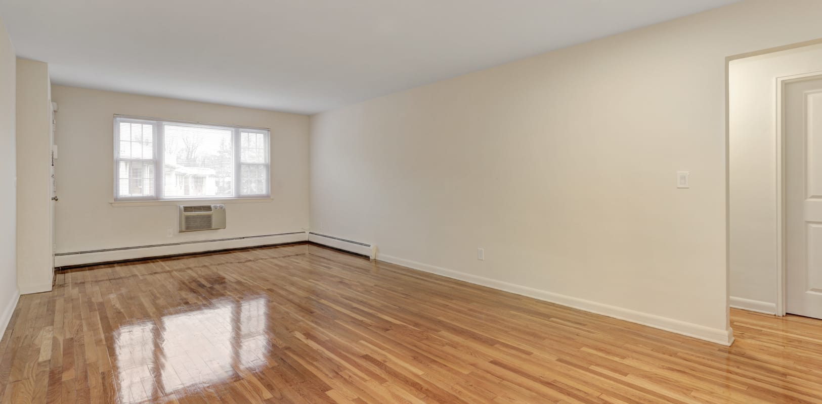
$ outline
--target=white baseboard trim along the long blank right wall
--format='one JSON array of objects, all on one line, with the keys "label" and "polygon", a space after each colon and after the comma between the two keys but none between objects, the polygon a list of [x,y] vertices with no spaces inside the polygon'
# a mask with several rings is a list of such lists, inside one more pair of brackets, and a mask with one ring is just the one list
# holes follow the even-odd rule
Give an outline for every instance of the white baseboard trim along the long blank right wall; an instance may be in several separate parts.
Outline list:
[{"label": "white baseboard trim along the long blank right wall", "polygon": [[714,342],[725,346],[733,343],[732,329],[709,328],[700,324],[687,323],[677,319],[668,319],[656,314],[643,313],[640,311],[624,309],[614,305],[606,305],[595,301],[561,295],[558,293],[542,291],[533,287],[515,285],[514,283],[502,282],[492,278],[484,278],[470,273],[463,273],[452,269],[445,269],[433,265],[422,264],[409,259],[401,259],[391,255],[381,254],[379,260],[390,264],[402,265],[411,269],[418,269],[428,273],[436,273],[447,278],[454,278],[460,281],[474,283],[484,287],[501,290],[503,292],[515,293],[521,296],[532,297],[540,301],[548,301],[557,305],[565,305],[573,309],[588,311],[594,314],[602,314],[614,319],[630,321],[631,323],[647,325],[659,328],[672,333],[695,337],[704,341]]}]

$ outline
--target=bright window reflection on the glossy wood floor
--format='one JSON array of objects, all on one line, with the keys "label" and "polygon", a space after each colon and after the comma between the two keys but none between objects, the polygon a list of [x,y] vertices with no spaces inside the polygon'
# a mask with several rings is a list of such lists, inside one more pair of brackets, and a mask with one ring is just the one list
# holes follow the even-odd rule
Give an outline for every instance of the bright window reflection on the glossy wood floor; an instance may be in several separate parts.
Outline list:
[{"label": "bright window reflection on the glossy wood floor", "polygon": [[223,300],[201,310],[124,326],[114,333],[118,393],[138,403],[200,388],[265,365],[266,297]]}]

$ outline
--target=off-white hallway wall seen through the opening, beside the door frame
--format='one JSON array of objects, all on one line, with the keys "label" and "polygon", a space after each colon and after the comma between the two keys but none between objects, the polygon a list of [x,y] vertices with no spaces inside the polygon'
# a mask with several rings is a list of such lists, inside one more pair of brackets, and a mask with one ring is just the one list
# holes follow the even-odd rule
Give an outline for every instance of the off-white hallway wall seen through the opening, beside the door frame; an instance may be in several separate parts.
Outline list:
[{"label": "off-white hallway wall seen through the opening, beside the door frame", "polygon": [[731,304],[776,312],[778,77],[822,71],[822,44],[746,57],[728,67]]}]

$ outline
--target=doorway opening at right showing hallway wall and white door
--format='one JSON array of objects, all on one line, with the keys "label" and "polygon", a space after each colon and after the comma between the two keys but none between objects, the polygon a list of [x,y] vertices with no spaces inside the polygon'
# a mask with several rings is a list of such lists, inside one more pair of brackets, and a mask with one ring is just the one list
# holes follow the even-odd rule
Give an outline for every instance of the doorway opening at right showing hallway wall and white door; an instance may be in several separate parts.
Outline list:
[{"label": "doorway opening at right showing hallway wall and white door", "polygon": [[728,63],[733,308],[822,319],[822,44]]}]

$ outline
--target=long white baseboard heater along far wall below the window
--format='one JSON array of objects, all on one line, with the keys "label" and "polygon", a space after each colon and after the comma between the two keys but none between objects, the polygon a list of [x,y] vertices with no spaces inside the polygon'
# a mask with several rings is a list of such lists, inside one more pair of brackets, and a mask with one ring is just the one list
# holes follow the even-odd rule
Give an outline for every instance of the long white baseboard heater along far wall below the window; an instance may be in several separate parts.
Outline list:
[{"label": "long white baseboard heater along far wall below the window", "polygon": [[65,267],[72,265],[98,264],[103,262],[122,261],[126,259],[192,254],[214,250],[227,250],[232,248],[270,246],[273,244],[286,244],[307,240],[308,237],[306,232],[293,232],[268,236],[236,237],[214,241],[187,241],[157,246],[60,253],[54,255],[54,266]]}]

